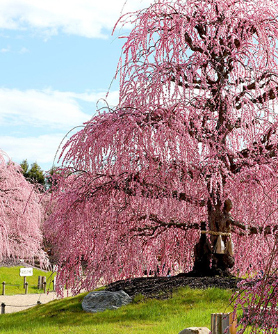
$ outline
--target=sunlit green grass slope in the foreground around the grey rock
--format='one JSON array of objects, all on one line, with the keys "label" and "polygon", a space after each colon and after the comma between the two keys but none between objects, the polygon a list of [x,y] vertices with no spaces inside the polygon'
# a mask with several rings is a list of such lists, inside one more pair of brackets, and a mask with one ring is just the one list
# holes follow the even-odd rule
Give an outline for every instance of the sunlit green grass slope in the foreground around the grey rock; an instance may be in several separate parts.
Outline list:
[{"label": "sunlit green grass slope in the foreground around the grey rock", "polygon": [[118,310],[96,314],[81,308],[85,294],[8,315],[0,315],[0,333],[5,334],[178,334],[190,326],[210,328],[211,313],[231,311],[231,291],[179,289],[172,299],[141,299]]}]

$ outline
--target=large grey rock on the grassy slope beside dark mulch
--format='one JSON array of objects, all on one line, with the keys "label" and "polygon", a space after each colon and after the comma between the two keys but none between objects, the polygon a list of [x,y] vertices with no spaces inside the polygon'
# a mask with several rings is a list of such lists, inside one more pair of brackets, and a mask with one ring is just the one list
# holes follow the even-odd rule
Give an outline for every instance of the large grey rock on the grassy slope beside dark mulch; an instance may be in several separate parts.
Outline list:
[{"label": "large grey rock on the grassy slope beside dark mulch", "polygon": [[94,291],[87,294],[82,301],[85,312],[102,312],[104,310],[117,310],[122,305],[131,303],[132,298],[124,291]]}]

